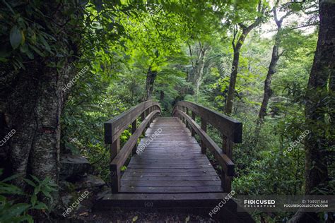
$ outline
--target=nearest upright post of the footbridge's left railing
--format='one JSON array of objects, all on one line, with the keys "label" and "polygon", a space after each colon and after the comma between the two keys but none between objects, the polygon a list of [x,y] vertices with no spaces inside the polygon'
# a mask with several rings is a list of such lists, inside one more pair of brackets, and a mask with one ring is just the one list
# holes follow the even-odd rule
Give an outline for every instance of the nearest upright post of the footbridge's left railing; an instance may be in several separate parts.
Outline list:
[{"label": "nearest upright post of the footbridge's left railing", "polygon": [[[117,156],[120,150],[120,139],[119,137],[117,140],[112,143],[110,146],[110,160],[113,160],[114,157]],[[111,165],[110,166],[110,176],[111,176],[111,183],[112,183],[112,192],[117,193],[119,192],[119,189],[121,187],[120,184],[120,172],[119,169],[117,169],[117,166]]]}]

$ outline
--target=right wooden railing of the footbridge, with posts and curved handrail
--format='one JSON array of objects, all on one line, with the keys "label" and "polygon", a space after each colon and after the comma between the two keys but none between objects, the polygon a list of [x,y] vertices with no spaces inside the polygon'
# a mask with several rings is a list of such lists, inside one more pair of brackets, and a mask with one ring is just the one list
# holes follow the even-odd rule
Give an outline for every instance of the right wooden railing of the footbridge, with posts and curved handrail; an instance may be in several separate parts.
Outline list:
[{"label": "right wooden railing of the footbridge, with posts and curved handrail", "polygon": [[[196,123],[196,115],[201,119],[201,126]],[[231,181],[235,175],[233,163],[233,143],[242,143],[242,123],[235,119],[213,111],[192,102],[177,102],[172,116],[179,117],[191,129],[192,136],[199,135],[201,139],[201,152],[206,154],[206,149],[213,154],[221,165],[221,186],[225,192],[231,191]],[[207,125],[211,124],[222,134],[223,147],[220,148],[206,133]]]}]

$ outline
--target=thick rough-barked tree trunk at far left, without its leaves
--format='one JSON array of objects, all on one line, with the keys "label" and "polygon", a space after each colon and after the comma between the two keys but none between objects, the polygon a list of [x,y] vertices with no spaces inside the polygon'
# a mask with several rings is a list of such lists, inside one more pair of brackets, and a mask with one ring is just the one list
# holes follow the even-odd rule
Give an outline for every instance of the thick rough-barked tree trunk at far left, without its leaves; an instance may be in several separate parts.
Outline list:
[{"label": "thick rough-barked tree trunk at far left, without its leaves", "polygon": [[[53,1],[42,4],[42,13],[53,20],[53,23],[49,20],[45,22],[54,25],[52,29],[45,27],[45,32],[57,40],[59,48],[73,51],[78,56],[74,40],[80,40],[79,34],[72,32],[74,27],[69,25],[62,28],[56,25],[64,24],[68,19],[64,17],[64,11],[69,4],[61,7]],[[57,30],[59,32],[55,35]],[[66,40],[69,33],[71,40]],[[29,64],[25,70],[13,71],[10,62],[0,66],[0,76],[6,80],[0,83],[0,114],[4,123],[0,126],[0,133],[3,135],[15,131],[1,147],[6,152],[1,155],[0,161],[10,163],[5,167],[8,173],[20,174],[13,183],[23,189],[26,187],[23,179],[30,178],[30,174],[39,179],[48,176],[51,181],[58,183],[60,116],[68,93],[63,88],[75,74],[74,67],[70,65],[74,58],[54,55],[41,58],[36,54],[33,61],[23,61],[23,64]],[[57,64],[60,59],[64,64],[62,68],[48,66],[51,62]],[[53,203],[49,203],[52,208],[57,205],[58,191],[53,197]]]}]

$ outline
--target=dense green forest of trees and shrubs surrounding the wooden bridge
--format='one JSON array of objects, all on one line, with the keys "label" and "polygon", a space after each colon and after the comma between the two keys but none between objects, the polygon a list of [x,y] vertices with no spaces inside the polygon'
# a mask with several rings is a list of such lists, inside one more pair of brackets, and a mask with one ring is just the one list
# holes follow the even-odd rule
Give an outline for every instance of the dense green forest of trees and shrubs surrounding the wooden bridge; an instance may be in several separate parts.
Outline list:
[{"label": "dense green forest of trees and shrubs surrounding the wooden bridge", "polygon": [[[0,222],[61,215],[64,155],[86,157],[110,183],[103,123],[147,100],[160,102],[163,116],[185,100],[243,123],[233,147],[236,193],[334,195],[333,0],[0,5],[0,168],[1,179],[10,177],[0,184]],[[207,131],[222,144],[215,128]],[[121,145],[130,135],[131,126]]]}]

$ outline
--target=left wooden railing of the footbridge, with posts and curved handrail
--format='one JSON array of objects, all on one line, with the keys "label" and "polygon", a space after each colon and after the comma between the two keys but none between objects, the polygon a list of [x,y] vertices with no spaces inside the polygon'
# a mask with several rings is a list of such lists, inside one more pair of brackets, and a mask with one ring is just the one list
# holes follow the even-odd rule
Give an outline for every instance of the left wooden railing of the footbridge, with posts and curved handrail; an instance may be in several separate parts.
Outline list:
[{"label": "left wooden railing of the footbridge, with posts and curved handrail", "polygon": [[[160,114],[161,108],[158,102],[146,101],[104,123],[105,143],[110,144],[110,175],[113,193],[119,192],[121,167],[129,155],[136,152],[138,138],[153,119]],[[137,127],[136,120],[139,116],[141,116],[141,124]],[[130,124],[131,137],[120,150],[120,135],[129,128]]]}]

